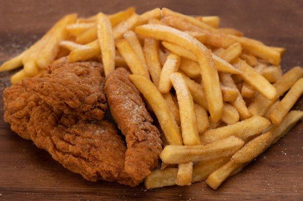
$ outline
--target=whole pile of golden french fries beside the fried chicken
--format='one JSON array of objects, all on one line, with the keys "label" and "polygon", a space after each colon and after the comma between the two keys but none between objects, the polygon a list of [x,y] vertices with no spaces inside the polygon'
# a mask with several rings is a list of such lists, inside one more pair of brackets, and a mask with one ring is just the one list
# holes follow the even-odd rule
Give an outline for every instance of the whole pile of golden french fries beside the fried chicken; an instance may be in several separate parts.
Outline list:
[{"label": "whole pile of golden french fries beside the fried chicken", "polygon": [[64,56],[69,62],[98,59],[106,76],[128,68],[164,134],[162,166],[147,176],[146,188],[206,180],[217,189],[303,116],[291,110],[303,93],[303,69],[282,74],[285,49],[219,24],[217,16],[167,8],[67,15],[0,71],[23,65],[14,84]]}]

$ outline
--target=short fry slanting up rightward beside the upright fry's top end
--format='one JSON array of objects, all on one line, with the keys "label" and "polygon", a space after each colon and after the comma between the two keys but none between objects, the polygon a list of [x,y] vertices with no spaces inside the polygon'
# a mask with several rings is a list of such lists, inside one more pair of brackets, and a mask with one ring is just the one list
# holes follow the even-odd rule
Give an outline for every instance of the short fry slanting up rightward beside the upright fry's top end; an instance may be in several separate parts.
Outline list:
[{"label": "short fry slanting up rightward beside the upright fry's top end", "polygon": [[123,34],[128,30],[133,29],[137,22],[139,21],[139,16],[137,14],[133,14],[126,20],[120,22],[117,26],[113,28],[113,34],[115,39],[119,39],[123,37]]}]

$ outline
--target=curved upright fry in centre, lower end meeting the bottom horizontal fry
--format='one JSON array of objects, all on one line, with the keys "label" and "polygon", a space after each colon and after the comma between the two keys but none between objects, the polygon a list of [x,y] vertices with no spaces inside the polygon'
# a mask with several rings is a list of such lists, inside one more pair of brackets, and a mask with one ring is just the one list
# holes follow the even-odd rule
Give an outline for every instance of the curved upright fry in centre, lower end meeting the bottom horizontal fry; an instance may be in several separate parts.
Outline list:
[{"label": "curved upright fry in centre, lower end meeting the bottom horizontal fry", "polygon": [[177,94],[183,143],[184,145],[199,145],[199,131],[189,89],[180,73],[172,73],[169,78]]}]

